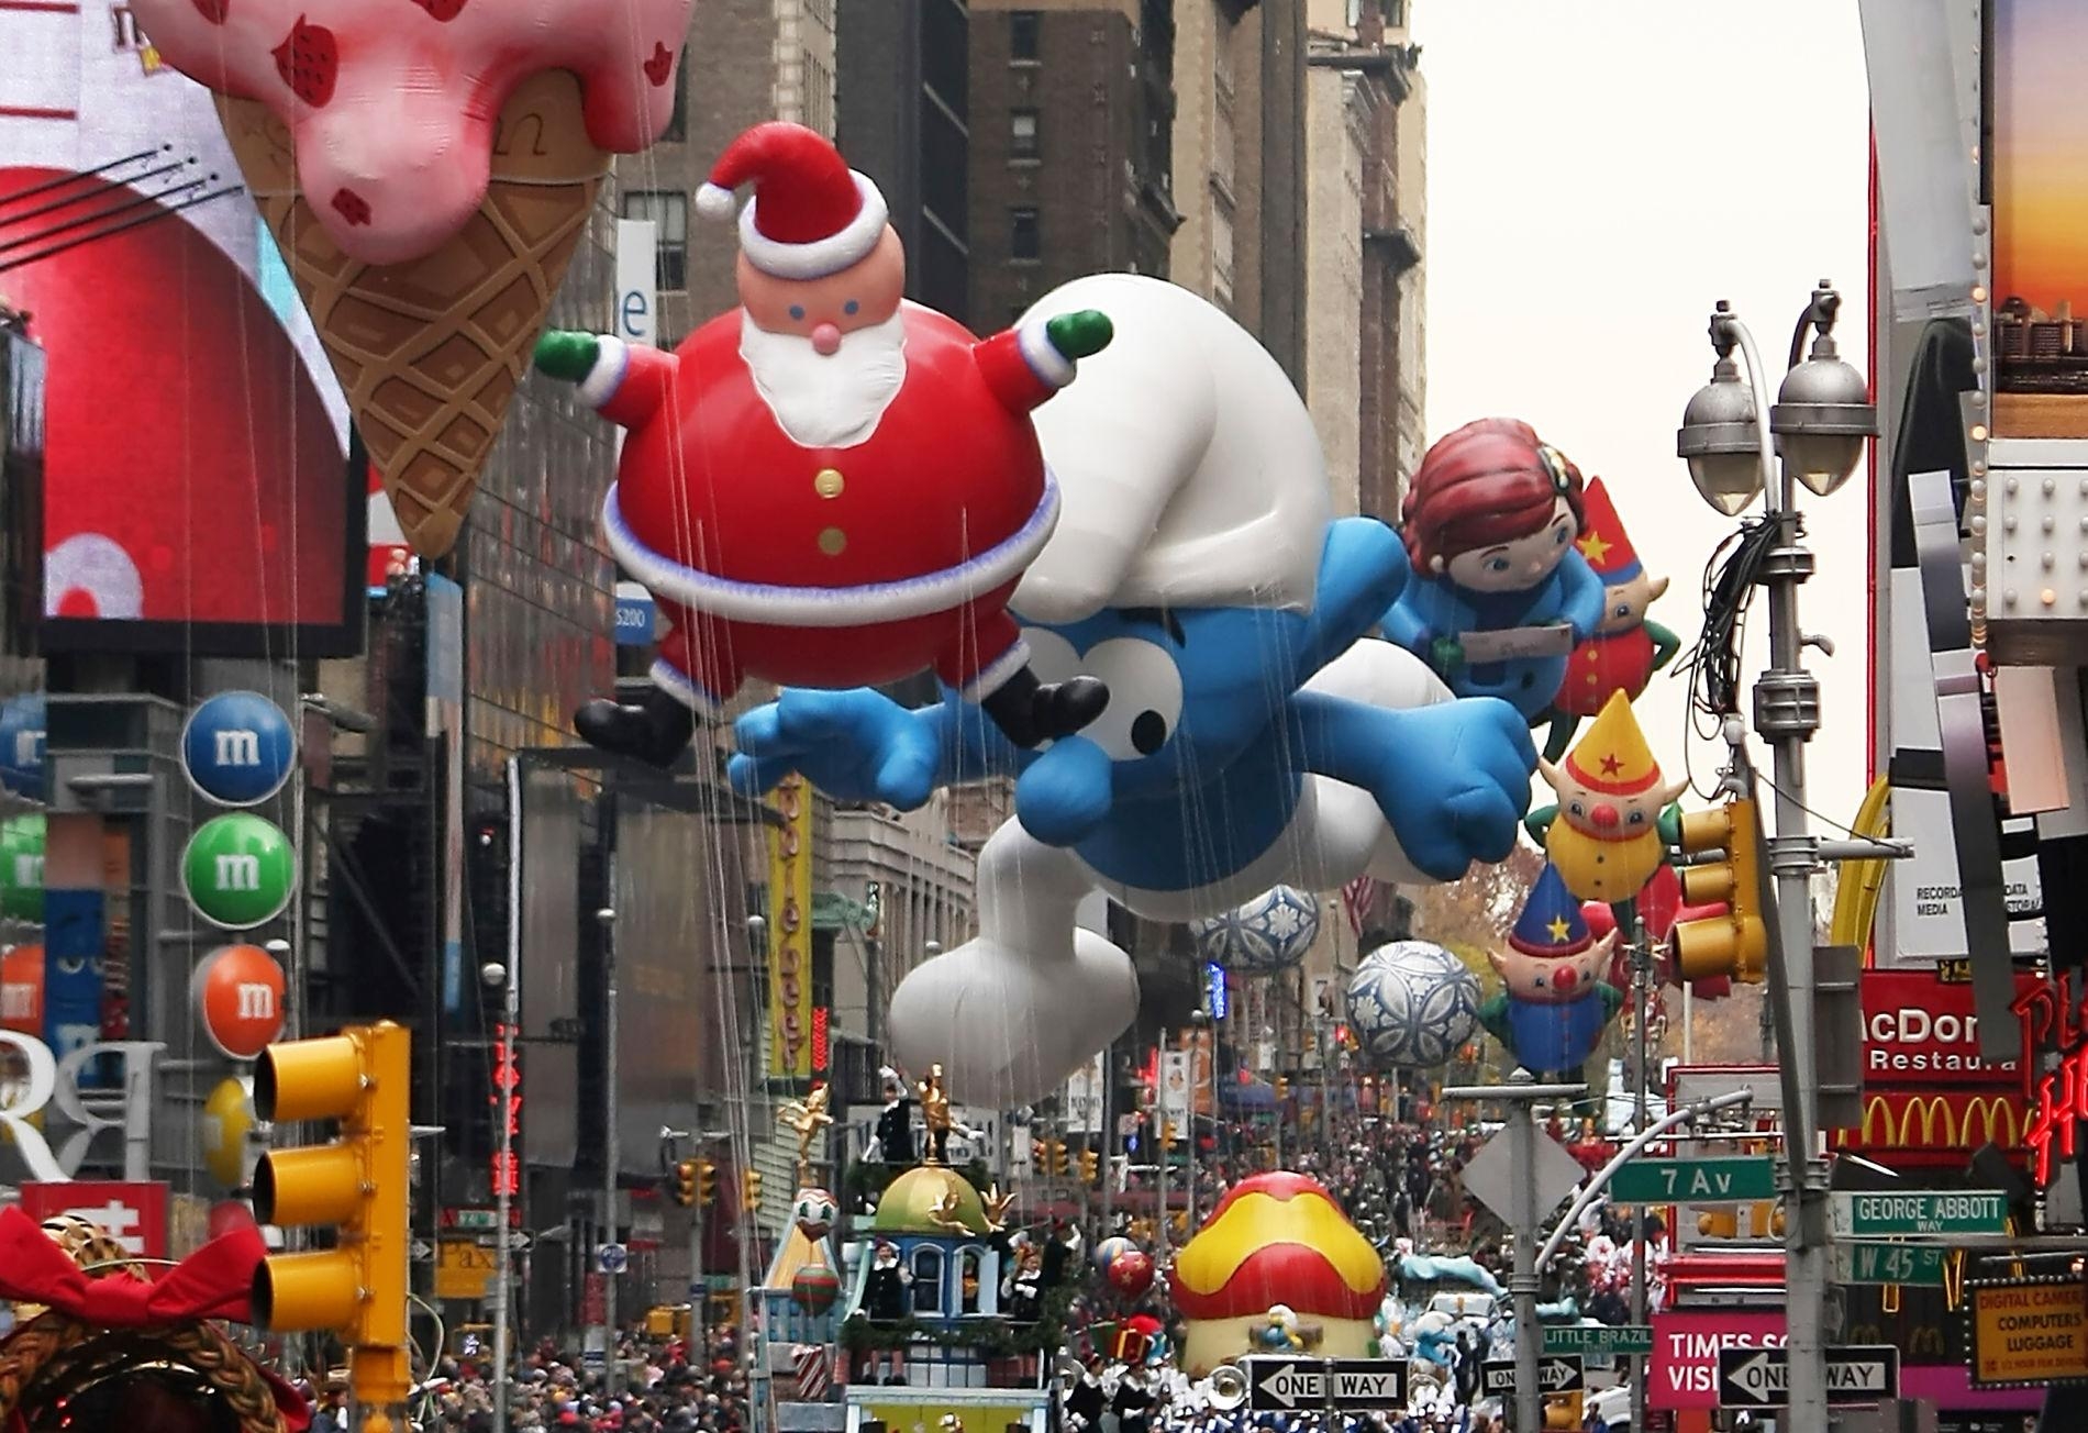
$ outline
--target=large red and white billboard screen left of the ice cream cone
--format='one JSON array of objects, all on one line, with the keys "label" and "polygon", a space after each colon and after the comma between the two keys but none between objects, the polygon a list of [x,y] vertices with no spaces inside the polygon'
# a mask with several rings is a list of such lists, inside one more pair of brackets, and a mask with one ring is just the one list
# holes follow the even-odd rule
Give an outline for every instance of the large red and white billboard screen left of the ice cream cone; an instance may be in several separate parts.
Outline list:
[{"label": "large red and white billboard screen left of the ice cream cone", "polygon": [[0,6],[0,292],[46,353],[46,650],[355,652],[347,405],[209,92],[129,6]]}]

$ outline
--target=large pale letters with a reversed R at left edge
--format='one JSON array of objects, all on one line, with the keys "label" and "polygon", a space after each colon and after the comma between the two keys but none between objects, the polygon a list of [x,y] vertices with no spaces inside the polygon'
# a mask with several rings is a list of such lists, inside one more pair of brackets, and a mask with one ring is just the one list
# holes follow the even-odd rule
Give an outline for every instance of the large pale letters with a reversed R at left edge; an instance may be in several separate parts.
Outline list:
[{"label": "large pale letters with a reversed R at left edge", "polygon": [[[81,1044],[65,1057],[52,1055],[50,1047],[19,1030],[0,1030],[0,1047],[17,1051],[27,1065],[27,1074],[0,1082],[0,1134],[13,1145],[15,1157],[27,1166],[29,1178],[46,1184],[63,1184],[79,1172],[88,1159],[88,1147],[102,1130],[123,1132],[123,1178],[129,1182],[150,1182],[152,1178],[152,1076],[157,1057],[165,1044],[157,1040],[111,1040],[106,1044]],[[88,1061],[113,1055],[121,1061],[123,1074],[109,1090],[81,1090],[79,1072]],[[65,1136],[56,1149],[44,1136],[35,1120],[46,1107],[56,1107],[77,1128]],[[6,1168],[0,1155],[0,1170]]]}]

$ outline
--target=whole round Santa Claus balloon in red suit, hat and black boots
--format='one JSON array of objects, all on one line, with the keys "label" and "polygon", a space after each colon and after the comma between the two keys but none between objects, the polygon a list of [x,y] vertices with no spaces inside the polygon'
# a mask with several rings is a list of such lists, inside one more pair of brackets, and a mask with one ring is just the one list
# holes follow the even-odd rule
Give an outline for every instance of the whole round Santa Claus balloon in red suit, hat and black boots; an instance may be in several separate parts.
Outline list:
[{"label": "whole round Santa Claus balloon in red suit, hat and black boots", "polygon": [[670,765],[748,677],[854,687],[935,675],[1015,746],[1071,735],[1100,683],[1044,685],[1009,593],[1059,520],[1029,414],[1111,338],[1092,309],[979,340],[904,303],[885,201],[804,125],[741,134],[697,196],[739,215],[741,307],[674,353],[549,334],[545,372],[628,430],[601,508],[668,618],[656,689],[589,702],[608,752]]}]

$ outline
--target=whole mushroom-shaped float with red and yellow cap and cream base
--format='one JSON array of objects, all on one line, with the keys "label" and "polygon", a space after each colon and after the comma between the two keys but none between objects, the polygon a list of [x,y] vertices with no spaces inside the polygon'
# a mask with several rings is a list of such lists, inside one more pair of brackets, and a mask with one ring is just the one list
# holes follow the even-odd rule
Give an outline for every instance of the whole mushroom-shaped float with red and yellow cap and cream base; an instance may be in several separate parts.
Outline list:
[{"label": "whole mushroom-shaped float with red and yellow cap and cream base", "polygon": [[1192,1379],[1301,1345],[1320,1358],[1368,1358],[1384,1260],[1318,1180],[1257,1174],[1182,1247],[1169,1289],[1188,1324],[1182,1370]]}]

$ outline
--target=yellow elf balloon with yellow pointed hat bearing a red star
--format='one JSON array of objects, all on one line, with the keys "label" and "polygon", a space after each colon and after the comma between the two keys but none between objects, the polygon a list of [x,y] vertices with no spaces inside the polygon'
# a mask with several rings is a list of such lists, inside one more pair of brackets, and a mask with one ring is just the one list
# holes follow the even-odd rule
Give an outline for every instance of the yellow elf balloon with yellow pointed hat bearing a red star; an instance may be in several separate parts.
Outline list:
[{"label": "yellow elf balloon with yellow pointed hat bearing a red star", "polygon": [[1639,894],[1666,863],[1660,808],[1689,790],[1664,783],[1631,712],[1631,698],[1612,691],[1601,716],[1566,752],[1566,765],[1537,762],[1558,792],[1560,808],[1545,831],[1545,854],[1581,900],[1618,905]]}]

